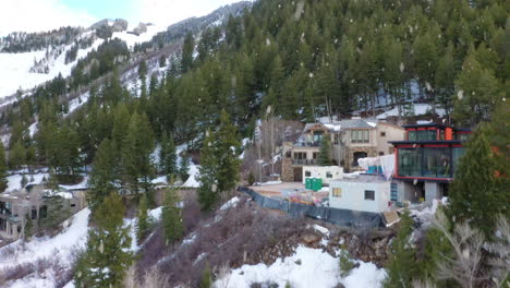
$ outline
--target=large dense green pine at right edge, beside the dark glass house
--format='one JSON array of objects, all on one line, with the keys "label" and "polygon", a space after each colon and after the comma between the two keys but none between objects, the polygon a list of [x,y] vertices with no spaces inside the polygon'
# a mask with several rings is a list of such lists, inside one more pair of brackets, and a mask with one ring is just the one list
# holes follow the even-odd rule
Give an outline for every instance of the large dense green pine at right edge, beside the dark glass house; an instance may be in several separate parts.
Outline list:
[{"label": "large dense green pine at right edge, beside the dark glass house", "polygon": [[510,201],[508,180],[498,176],[501,168],[499,157],[506,156],[496,153],[487,140],[487,132],[478,127],[459,160],[450,185],[448,212],[452,221],[467,220],[488,238],[491,237],[497,215],[510,216],[507,208]]}]

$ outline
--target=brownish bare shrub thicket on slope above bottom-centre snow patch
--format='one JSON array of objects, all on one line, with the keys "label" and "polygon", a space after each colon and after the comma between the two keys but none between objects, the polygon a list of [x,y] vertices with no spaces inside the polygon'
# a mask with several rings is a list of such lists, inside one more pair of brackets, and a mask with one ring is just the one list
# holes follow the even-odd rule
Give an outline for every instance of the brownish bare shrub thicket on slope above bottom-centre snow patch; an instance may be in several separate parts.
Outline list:
[{"label": "brownish bare shrub thicket on slope above bottom-centre snow patch", "polygon": [[[217,217],[203,221],[194,231],[192,243],[172,249],[158,266],[169,277],[169,284],[189,284],[195,287],[202,277],[206,262],[219,277],[227,262],[239,267],[245,260],[260,262],[266,247],[274,247],[272,239],[288,239],[302,229],[303,220],[290,219],[286,215],[267,213],[257,206],[248,206],[241,197],[235,207],[219,212]],[[216,218],[216,219],[215,219]],[[275,253],[272,261],[278,256]]]}]

